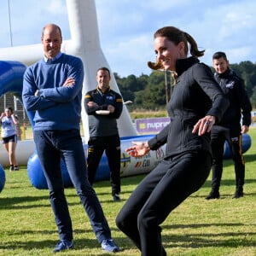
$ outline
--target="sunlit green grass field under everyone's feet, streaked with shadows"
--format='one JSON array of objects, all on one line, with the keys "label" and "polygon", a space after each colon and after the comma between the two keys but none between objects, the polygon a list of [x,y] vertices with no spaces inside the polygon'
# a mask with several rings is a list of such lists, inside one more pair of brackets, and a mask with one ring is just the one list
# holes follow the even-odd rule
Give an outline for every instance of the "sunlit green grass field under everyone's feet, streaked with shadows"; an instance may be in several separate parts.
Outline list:
[{"label": "sunlit green grass field under everyone's feet, streaked with shadows", "polygon": [[[204,186],[177,207],[162,224],[163,244],[168,255],[256,255],[256,129],[251,129],[252,147],[245,154],[245,196],[234,200],[235,173],[232,160],[224,160],[219,200],[206,201],[211,176]],[[211,174],[212,175],[212,174]],[[115,226],[115,217],[143,176],[122,178],[122,198],[113,203],[108,181],[95,184],[113,238],[122,248],[118,255],[140,255],[131,241]],[[87,215],[74,189],[66,189],[73,219],[75,249],[61,255],[111,255],[104,253],[90,228]],[[58,241],[48,190],[32,187],[26,168],[6,170],[0,194],[0,254],[51,255]],[[156,255],[157,256],[157,255]]]}]

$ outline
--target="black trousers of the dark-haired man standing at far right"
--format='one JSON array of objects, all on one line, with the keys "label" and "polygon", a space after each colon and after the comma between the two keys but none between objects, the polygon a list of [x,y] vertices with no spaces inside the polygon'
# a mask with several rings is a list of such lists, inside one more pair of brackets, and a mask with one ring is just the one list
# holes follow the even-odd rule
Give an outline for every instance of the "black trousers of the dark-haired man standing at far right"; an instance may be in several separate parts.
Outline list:
[{"label": "black trousers of the dark-haired man standing at far right", "polygon": [[242,189],[245,178],[245,162],[241,153],[241,134],[231,137],[230,129],[223,126],[212,127],[212,190],[217,192],[223,172],[224,143],[230,145],[232,158],[235,163],[236,189]]}]

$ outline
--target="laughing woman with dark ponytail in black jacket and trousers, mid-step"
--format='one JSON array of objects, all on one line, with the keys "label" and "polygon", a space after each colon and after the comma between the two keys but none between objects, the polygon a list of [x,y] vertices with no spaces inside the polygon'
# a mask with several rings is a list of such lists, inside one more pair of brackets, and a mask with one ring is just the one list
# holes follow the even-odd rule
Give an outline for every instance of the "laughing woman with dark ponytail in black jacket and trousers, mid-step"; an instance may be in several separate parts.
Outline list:
[{"label": "laughing woman with dark ponytail in black jacket and trousers, mid-step", "polygon": [[[187,57],[189,49],[192,56]],[[166,255],[160,224],[207,180],[212,164],[209,131],[229,105],[210,68],[197,59],[204,50],[197,48],[188,33],[173,26],[160,28],[154,33],[154,50],[157,64],[151,66],[176,74],[167,107],[171,123],[148,142],[133,143],[126,152],[139,157],[166,143],[166,156],[137,186],[116,218],[119,229],[143,256]]]}]

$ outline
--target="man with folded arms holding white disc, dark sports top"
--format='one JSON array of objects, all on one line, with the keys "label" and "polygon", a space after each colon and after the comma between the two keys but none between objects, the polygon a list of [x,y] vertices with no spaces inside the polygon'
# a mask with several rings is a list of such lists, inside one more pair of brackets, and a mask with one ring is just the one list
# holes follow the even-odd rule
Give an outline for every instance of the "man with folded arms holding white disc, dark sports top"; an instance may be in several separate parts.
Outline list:
[{"label": "man with folded arms holding white disc, dark sports top", "polygon": [[105,150],[110,169],[113,201],[120,201],[120,138],[117,119],[123,110],[122,97],[110,89],[110,72],[101,67],[96,73],[97,88],[85,94],[84,108],[89,115],[87,169],[92,184]]}]

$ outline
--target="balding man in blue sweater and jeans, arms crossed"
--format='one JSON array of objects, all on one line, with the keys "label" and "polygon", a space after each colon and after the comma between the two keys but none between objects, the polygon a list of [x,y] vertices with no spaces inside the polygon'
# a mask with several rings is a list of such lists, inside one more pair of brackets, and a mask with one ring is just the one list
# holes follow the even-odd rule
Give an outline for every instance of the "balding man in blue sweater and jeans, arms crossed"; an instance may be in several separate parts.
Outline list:
[{"label": "balding man in blue sweater and jeans, arms crossed", "polygon": [[41,43],[44,58],[26,69],[22,98],[26,110],[35,111],[33,136],[60,236],[53,252],[73,248],[73,227],[64,195],[61,158],[97,240],[104,250],[117,252],[119,247],[111,239],[108,222],[87,178],[79,131],[83,62],[61,53],[61,28],[55,24],[44,26]]}]

